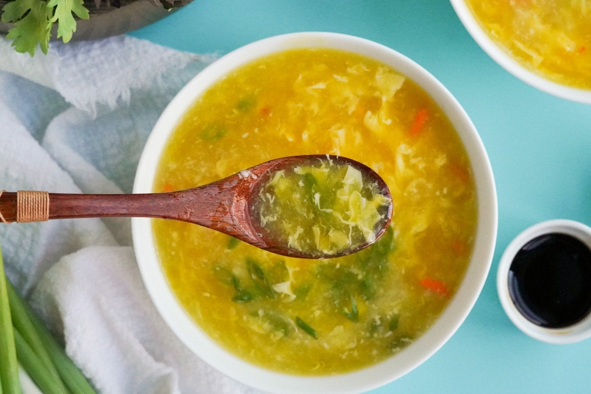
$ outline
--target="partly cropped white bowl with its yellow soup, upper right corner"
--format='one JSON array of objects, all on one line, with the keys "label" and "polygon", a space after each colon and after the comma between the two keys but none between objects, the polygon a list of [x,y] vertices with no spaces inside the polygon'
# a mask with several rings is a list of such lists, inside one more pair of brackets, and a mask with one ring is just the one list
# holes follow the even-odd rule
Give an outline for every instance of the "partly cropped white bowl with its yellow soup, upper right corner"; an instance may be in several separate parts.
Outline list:
[{"label": "partly cropped white bowl with its yellow soup, upper right corner", "polygon": [[591,103],[591,3],[451,0],[476,43],[500,66],[552,95]]}]

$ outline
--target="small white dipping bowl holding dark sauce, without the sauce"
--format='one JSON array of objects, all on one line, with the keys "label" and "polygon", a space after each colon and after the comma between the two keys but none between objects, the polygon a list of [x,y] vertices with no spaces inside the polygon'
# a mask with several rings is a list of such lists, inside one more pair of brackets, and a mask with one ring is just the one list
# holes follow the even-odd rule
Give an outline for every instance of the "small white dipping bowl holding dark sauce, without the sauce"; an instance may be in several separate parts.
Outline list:
[{"label": "small white dipping bowl holding dark sauce, without the sauce", "polygon": [[547,343],[567,344],[582,341],[591,337],[591,313],[583,320],[563,328],[545,328],[532,323],[524,317],[515,306],[511,294],[509,294],[509,270],[515,255],[532,239],[546,234],[570,235],[583,242],[591,249],[591,228],[583,223],[573,220],[556,219],[534,224],[525,229],[509,243],[501,257],[496,273],[496,286],[501,305],[509,319],[517,325],[519,330],[528,336]]}]

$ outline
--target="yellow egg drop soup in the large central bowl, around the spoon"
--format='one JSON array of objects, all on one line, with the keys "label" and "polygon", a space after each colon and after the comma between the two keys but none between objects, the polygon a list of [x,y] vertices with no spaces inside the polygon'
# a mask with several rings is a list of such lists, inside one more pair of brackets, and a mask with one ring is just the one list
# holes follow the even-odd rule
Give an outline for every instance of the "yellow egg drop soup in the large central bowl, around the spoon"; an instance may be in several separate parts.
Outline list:
[{"label": "yellow egg drop soup in the large central bowl, around the spoon", "polygon": [[155,191],[301,154],[349,157],[384,178],[394,211],[374,245],[342,258],[285,258],[157,219],[154,239],[178,301],[228,351],[294,375],[345,373],[413,343],[453,297],[475,240],[472,167],[417,84],[357,54],[301,49],[207,90],[171,135]]}]

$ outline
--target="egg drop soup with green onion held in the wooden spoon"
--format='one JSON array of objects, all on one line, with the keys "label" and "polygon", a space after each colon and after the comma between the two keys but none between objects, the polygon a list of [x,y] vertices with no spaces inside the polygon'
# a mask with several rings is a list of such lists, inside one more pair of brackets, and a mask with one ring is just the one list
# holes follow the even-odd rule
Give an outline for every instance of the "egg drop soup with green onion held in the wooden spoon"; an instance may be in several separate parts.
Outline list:
[{"label": "egg drop soup with green onion held in the wooden spoon", "polygon": [[391,198],[339,157],[314,160],[269,175],[252,207],[254,221],[279,245],[311,257],[374,243],[387,225]]}]

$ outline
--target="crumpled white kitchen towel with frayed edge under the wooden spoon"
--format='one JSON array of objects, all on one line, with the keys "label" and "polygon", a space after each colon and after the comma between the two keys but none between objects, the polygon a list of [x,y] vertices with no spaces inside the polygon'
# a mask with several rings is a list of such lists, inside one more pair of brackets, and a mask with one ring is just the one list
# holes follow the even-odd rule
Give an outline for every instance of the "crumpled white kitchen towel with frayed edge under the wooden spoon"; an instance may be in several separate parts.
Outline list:
[{"label": "crumpled white kitchen towel with frayed edge under the wooden spoon", "polygon": [[[128,36],[18,54],[0,37],[0,190],[129,193],[152,126],[210,63]],[[168,329],[129,219],[0,223],[9,279],[101,394],[254,393]]]}]

